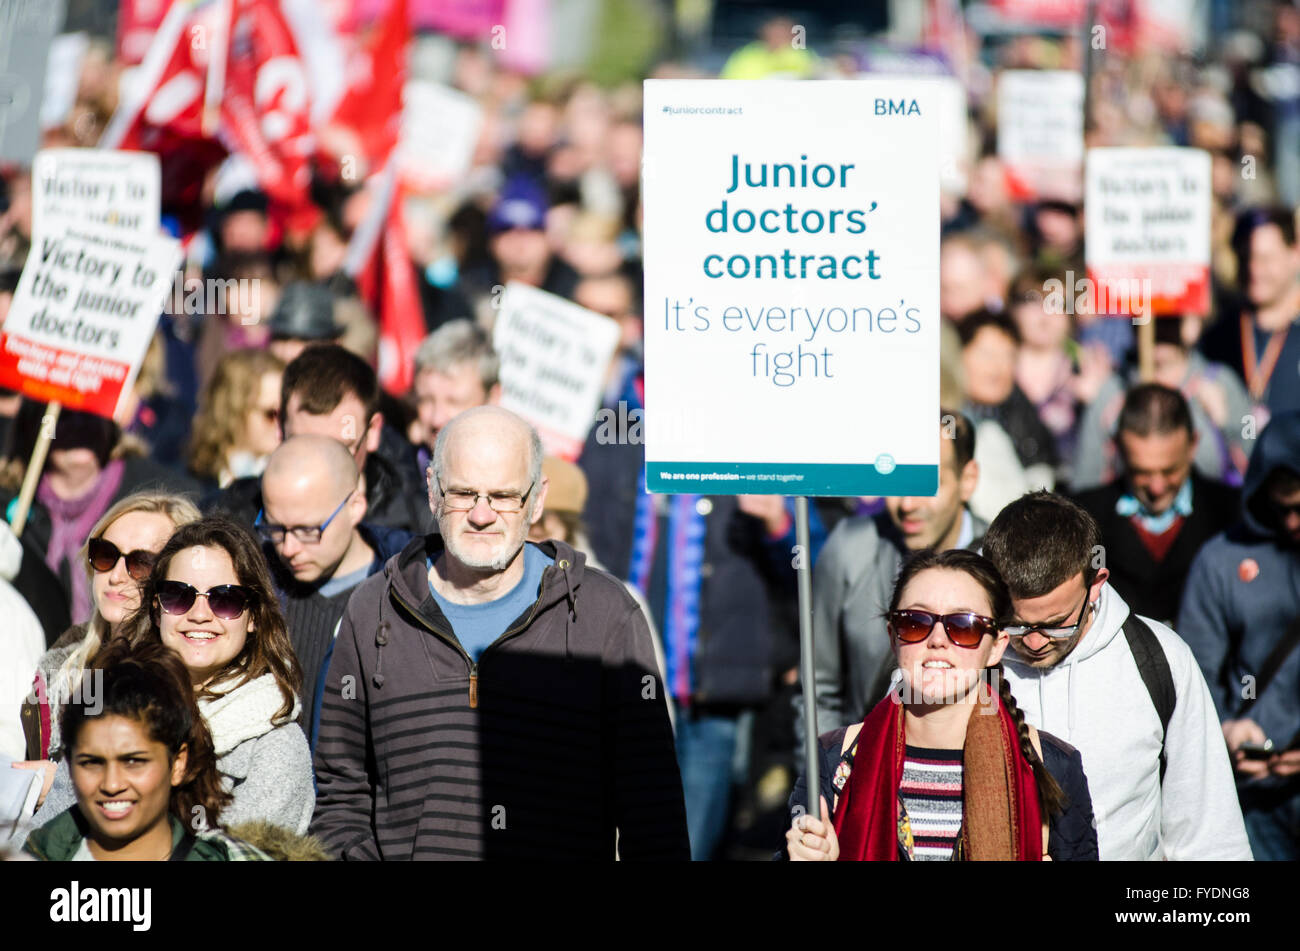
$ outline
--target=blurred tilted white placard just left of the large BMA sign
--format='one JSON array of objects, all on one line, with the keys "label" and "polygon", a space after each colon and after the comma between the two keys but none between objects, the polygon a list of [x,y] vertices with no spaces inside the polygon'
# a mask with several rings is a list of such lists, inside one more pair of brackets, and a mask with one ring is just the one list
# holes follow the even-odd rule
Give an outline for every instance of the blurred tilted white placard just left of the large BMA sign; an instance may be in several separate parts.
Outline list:
[{"label": "blurred tilted white placard just left of the large BMA sign", "polygon": [[549,453],[577,459],[618,343],[619,325],[608,317],[528,285],[506,285],[493,327],[500,404],[537,427]]}]

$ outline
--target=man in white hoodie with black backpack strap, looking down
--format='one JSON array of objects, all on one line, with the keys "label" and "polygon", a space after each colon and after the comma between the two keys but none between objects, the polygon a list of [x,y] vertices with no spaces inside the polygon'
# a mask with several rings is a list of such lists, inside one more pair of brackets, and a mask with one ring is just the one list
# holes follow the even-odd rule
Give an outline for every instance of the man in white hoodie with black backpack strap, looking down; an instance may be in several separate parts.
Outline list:
[{"label": "man in white hoodie with black backpack strap, looking down", "polygon": [[[1124,631],[1128,605],[1106,583],[1093,518],[1052,492],[1031,492],[997,516],[984,555],[1011,590],[1004,669],[1024,717],[1079,750],[1102,860],[1251,859],[1227,747],[1191,650],[1141,618],[1158,651],[1148,678],[1173,686],[1167,729]],[[1158,656],[1167,674],[1153,674]],[[1162,767],[1164,760],[1165,764]]]}]

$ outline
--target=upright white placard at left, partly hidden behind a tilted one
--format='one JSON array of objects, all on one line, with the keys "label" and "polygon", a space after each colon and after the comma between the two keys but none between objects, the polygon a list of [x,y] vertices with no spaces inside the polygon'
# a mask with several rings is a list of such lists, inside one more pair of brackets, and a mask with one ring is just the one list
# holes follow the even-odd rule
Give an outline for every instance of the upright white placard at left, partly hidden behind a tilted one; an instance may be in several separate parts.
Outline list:
[{"label": "upright white placard at left, partly hidden behind a tilted one", "polygon": [[107,227],[152,236],[159,231],[161,194],[152,152],[42,149],[31,169],[32,234]]}]

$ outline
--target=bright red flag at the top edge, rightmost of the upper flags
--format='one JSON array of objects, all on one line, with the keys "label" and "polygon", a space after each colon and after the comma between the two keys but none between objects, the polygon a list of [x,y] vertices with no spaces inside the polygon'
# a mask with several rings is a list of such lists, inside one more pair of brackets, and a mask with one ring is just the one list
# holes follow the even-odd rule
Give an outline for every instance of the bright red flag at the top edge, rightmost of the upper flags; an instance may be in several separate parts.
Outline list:
[{"label": "bright red flag at the top edge, rightmost of the upper flags", "polygon": [[402,127],[402,87],[411,43],[408,0],[390,0],[384,19],[348,57],[348,87],[333,121],[358,134],[373,168],[387,161]]}]

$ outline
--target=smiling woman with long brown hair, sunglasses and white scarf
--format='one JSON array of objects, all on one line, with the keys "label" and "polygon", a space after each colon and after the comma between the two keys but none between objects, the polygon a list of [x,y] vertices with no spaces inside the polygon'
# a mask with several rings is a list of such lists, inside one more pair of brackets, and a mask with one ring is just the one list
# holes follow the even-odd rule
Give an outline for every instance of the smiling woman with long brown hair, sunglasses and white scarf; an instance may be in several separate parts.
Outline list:
[{"label": "smiling woman with long brown hair, sunglasses and white scarf", "polygon": [[174,650],[212,733],[230,825],[307,831],[316,804],[295,722],[302,672],[257,543],[220,516],[181,527],[159,553],[126,624],[134,643]]}]

